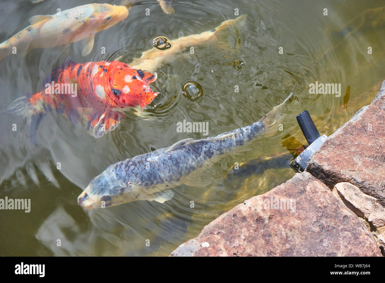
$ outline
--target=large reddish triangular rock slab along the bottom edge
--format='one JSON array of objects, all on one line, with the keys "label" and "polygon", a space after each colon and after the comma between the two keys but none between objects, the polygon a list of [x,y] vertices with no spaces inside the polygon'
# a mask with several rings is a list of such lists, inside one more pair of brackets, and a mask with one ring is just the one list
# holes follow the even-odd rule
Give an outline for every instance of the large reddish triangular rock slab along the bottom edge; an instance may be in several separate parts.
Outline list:
[{"label": "large reddish triangular rock slab along the bottom edge", "polygon": [[381,253],[373,235],[358,217],[323,183],[304,172],[222,214],[171,256],[381,256]]}]

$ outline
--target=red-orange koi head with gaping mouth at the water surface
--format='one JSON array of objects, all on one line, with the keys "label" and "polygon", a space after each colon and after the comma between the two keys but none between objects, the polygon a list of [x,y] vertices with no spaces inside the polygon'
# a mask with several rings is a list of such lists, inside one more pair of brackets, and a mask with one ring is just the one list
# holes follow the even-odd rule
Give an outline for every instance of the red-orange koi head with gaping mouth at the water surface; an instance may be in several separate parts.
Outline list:
[{"label": "red-orange koi head with gaping mouth at the water surface", "polygon": [[158,95],[149,87],[157,78],[156,72],[136,70],[118,61],[113,61],[110,66],[112,105],[116,105],[116,108],[140,105],[143,109]]}]

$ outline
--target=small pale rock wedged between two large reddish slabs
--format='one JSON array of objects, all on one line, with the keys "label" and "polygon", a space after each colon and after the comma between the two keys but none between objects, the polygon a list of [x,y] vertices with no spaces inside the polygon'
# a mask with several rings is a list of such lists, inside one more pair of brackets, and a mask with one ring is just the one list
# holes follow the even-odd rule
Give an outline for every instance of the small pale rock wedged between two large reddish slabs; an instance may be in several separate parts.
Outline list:
[{"label": "small pale rock wedged between two large reddish slabs", "polygon": [[333,193],[357,216],[365,218],[376,228],[385,225],[385,209],[377,203],[377,199],[368,196],[350,183],[338,183]]}]

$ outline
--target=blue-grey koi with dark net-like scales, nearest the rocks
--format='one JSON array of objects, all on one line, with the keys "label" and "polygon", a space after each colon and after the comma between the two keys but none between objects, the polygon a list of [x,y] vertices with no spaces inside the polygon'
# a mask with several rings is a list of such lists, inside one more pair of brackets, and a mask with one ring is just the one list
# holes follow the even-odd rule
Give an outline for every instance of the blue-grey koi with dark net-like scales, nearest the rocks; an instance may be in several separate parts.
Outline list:
[{"label": "blue-grey koi with dark net-like scales, nearest the rocks", "polygon": [[[164,203],[180,184],[204,185],[196,178],[226,153],[258,136],[278,130],[282,109],[291,94],[258,122],[207,139],[184,139],[174,145],[110,165],[95,177],[77,199],[85,209],[148,200]],[[203,175],[203,174],[201,174]],[[206,174],[209,175],[209,174]]]}]

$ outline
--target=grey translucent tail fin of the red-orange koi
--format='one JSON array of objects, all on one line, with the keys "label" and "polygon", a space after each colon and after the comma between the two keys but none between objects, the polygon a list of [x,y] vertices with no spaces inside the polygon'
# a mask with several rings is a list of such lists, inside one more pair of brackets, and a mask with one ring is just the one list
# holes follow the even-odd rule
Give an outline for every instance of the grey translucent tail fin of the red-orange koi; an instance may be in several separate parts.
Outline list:
[{"label": "grey translucent tail fin of the red-orange koi", "polygon": [[7,107],[1,113],[17,114],[27,120],[27,124],[30,127],[31,142],[36,146],[36,132],[39,127],[40,121],[47,114],[48,109],[42,107],[39,109],[36,105],[30,103],[30,99],[26,96],[20,97],[13,101],[11,105]]}]

